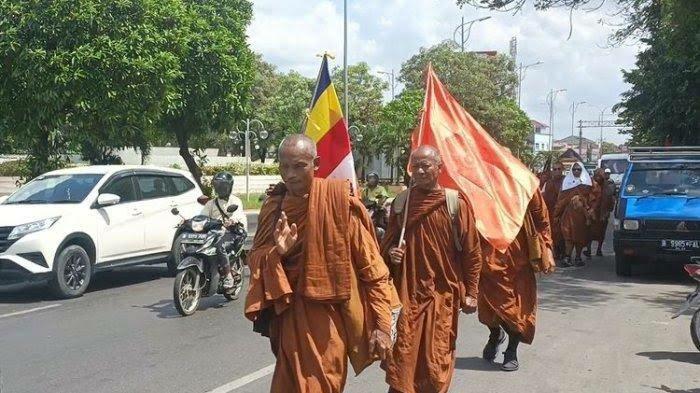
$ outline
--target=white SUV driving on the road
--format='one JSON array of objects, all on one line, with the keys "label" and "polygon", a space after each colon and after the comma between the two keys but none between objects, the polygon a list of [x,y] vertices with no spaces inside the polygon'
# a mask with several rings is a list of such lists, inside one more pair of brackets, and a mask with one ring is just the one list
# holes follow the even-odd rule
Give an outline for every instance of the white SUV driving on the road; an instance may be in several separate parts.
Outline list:
[{"label": "white SUV driving on the road", "polygon": [[196,215],[201,196],[188,172],[166,168],[39,176],[0,204],[0,285],[46,281],[56,295],[76,297],[99,270],[167,261],[180,221],[170,211]]}]

